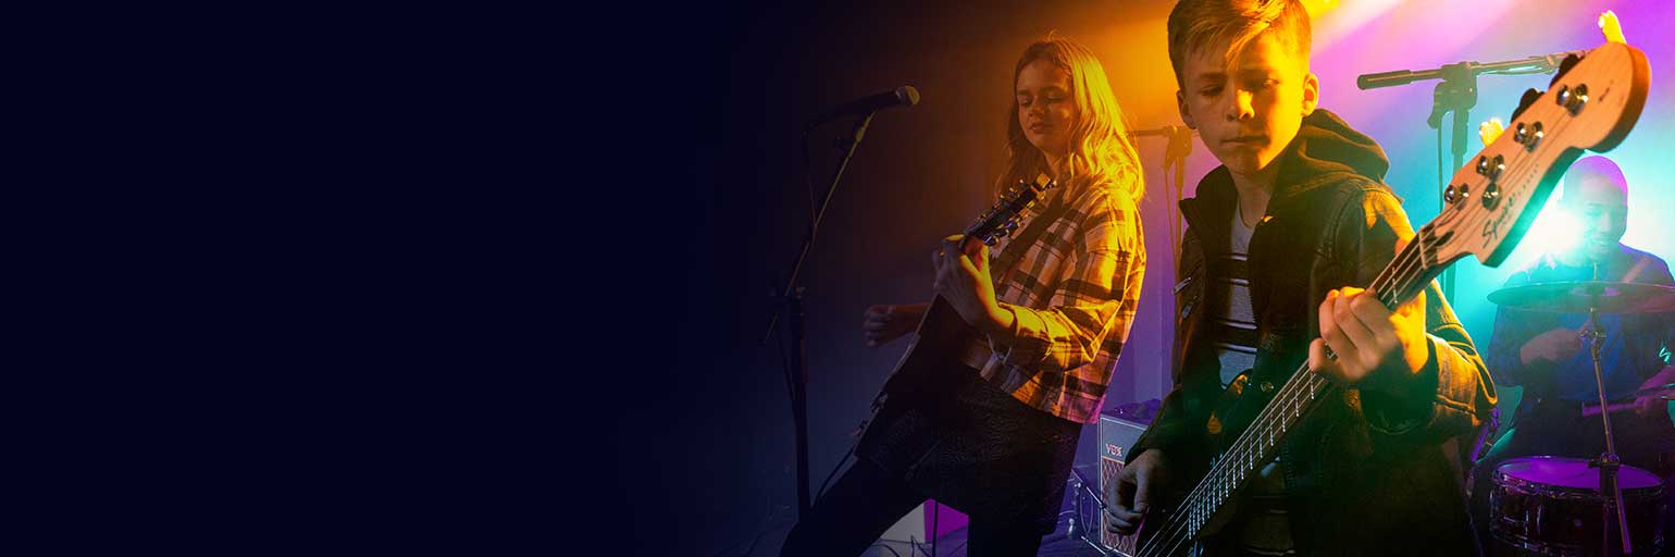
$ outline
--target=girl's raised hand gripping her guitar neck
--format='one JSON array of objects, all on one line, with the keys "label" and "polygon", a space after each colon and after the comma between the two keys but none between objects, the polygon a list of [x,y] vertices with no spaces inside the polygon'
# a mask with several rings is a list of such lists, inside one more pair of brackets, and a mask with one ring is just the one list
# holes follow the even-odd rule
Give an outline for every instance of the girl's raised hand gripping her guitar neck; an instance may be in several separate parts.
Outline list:
[{"label": "girl's raised hand gripping her guitar neck", "polygon": [[953,235],[943,238],[941,248],[931,253],[931,263],[936,265],[936,294],[948,300],[960,319],[985,334],[1012,329],[1012,312],[995,302],[988,245]]}]

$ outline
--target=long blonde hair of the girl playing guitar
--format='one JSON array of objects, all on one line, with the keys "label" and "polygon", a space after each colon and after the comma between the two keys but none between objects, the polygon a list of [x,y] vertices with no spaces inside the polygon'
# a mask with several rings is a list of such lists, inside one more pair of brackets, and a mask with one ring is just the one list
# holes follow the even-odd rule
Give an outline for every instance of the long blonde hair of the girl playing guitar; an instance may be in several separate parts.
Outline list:
[{"label": "long blonde hair of the girl playing guitar", "polygon": [[[1013,91],[1018,89],[1018,74],[1035,60],[1050,60],[1070,72],[1070,97],[1075,102],[1077,119],[1070,129],[1070,153],[1065,156],[1059,185],[1114,186],[1139,203],[1146,195],[1146,174],[1141,171],[1141,158],[1134,149],[1134,139],[1129,138],[1127,124],[1122,122],[1122,107],[1111,92],[1106,67],[1087,47],[1049,35],[1023,49],[1018,65],[1012,70]],[[1007,166],[995,183],[997,191],[1005,191],[1018,180],[1033,181],[1045,168],[1047,158],[1023,134],[1017,101],[1012,101],[1007,104]]]}]

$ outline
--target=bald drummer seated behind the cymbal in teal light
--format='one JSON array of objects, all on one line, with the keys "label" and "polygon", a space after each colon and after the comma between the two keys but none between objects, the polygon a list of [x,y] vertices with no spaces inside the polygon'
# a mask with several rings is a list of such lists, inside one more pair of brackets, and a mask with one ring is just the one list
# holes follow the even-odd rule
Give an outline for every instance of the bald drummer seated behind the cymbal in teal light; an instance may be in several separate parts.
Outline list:
[{"label": "bald drummer seated behind the cymbal in teal light", "polygon": [[[1668,265],[1657,255],[1623,245],[1628,226],[1628,181],[1603,156],[1576,161],[1564,174],[1556,203],[1576,220],[1574,245],[1543,247],[1541,258],[1506,280],[1508,287],[1538,282],[1613,280],[1675,285]],[[1519,456],[1596,458],[1605,451],[1598,416],[1583,418],[1583,406],[1598,404],[1593,357],[1578,332],[1586,314],[1549,314],[1501,305],[1489,339],[1489,369],[1497,384],[1523,386],[1511,429],[1474,468],[1472,517],[1479,537],[1487,535],[1487,495],[1494,466]],[[1625,399],[1638,389],[1675,381],[1672,314],[1600,314],[1605,344],[1600,369],[1606,398]],[[1626,406],[1626,404],[1625,404]],[[1633,399],[1631,409],[1611,414],[1611,433],[1623,465],[1663,478],[1665,498],[1675,495],[1675,424],[1662,393]],[[1675,502],[1675,500],[1672,500]],[[1675,515],[1675,505],[1670,513]],[[1665,520],[1665,528],[1668,520]],[[1487,547],[1487,539],[1482,542]]]}]

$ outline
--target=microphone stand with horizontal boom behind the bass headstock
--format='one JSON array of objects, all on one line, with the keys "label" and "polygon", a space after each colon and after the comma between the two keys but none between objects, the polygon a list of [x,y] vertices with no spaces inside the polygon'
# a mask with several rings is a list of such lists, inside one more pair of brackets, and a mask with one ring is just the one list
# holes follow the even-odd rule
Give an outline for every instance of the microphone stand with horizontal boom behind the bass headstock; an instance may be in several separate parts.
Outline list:
[{"label": "microphone stand with horizontal boom behind the bass headstock", "polygon": [[[1424,79],[1440,79],[1442,82],[1430,92],[1430,116],[1425,124],[1437,131],[1437,213],[1447,208],[1442,191],[1449,188],[1449,166],[1442,156],[1442,116],[1454,112],[1451,151],[1454,153],[1454,169],[1466,164],[1466,124],[1471,122],[1471,109],[1477,106],[1477,75],[1526,75],[1548,74],[1559,67],[1566,55],[1586,52],[1561,52],[1549,55],[1533,55],[1504,62],[1459,62],[1430,70],[1395,70],[1380,74],[1362,74],[1355,77],[1355,86],[1362,91],[1405,86]],[[1442,297],[1454,297],[1454,267],[1442,272]]]}]

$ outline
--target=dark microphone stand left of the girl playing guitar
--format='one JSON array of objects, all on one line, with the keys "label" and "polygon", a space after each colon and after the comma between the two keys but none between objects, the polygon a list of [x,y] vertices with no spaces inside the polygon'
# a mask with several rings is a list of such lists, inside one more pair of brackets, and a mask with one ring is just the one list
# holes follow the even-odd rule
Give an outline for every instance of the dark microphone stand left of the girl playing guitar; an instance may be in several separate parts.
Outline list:
[{"label": "dark microphone stand left of the girl playing guitar", "polygon": [[[809,257],[809,248],[814,247],[816,232],[821,228],[821,218],[826,216],[826,208],[832,201],[832,193],[838,191],[838,181],[843,180],[844,169],[849,168],[849,158],[854,156],[854,148],[861,144],[861,138],[866,136],[866,126],[873,122],[873,114],[878,111],[866,112],[861,119],[854,122],[854,128],[846,136],[848,146],[844,146],[843,161],[838,163],[838,171],[832,173],[832,181],[826,186],[826,198],[821,200],[819,210],[814,211],[814,220],[809,223],[807,235],[802,238],[802,250],[797,253],[797,260],[791,263],[791,277],[786,280],[786,287],[774,292],[774,299],[786,309],[787,327],[791,329],[792,349],[791,349],[791,369],[786,381],[791,384],[791,419],[796,424],[796,445],[797,445],[797,517],[807,517],[809,508],[814,502],[809,498],[809,366],[807,366],[807,322],[804,319],[804,290],[797,287],[797,273],[802,272],[802,262]],[[809,129],[802,131],[802,153],[807,154]],[[804,161],[804,166],[807,161]],[[759,346],[765,346],[767,339],[774,336],[774,327],[779,324],[779,312],[767,322],[767,332],[762,336]]]}]

